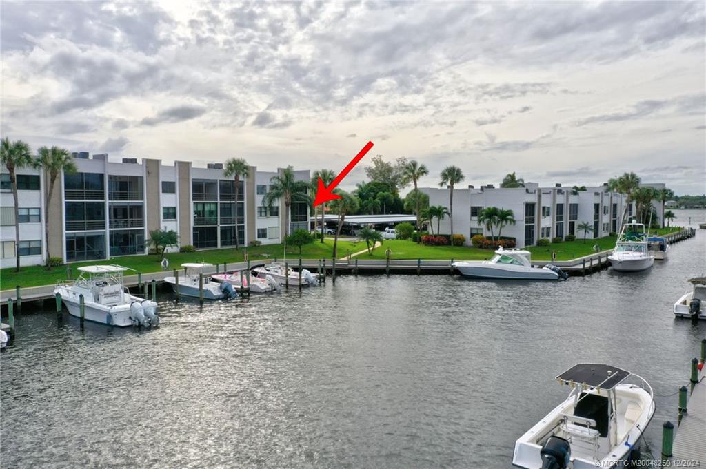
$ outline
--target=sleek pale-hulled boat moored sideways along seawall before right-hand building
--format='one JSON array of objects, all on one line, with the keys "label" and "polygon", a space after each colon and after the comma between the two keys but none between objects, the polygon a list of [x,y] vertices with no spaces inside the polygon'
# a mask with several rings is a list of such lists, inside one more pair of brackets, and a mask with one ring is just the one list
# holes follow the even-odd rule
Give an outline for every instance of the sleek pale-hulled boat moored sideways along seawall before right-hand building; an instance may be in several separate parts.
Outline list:
[{"label": "sleek pale-hulled boat moored sideways along seawall before right-hand building", "polygon": [[568,275],[555,265],[532,267],[532,252],[498,248],[491,260],[454,262],[462,275],[479,279],[558,280]]}]

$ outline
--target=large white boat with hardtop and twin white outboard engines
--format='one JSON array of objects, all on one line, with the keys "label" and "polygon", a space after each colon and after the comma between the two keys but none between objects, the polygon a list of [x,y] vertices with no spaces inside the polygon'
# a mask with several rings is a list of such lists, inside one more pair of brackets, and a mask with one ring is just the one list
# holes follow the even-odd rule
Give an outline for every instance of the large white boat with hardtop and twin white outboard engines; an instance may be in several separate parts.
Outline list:
[{"label": "large white boat with hardtop and twin white outboard engines", "polygon": [[59,293],[68,313],[80,317],[80,296],[83,295],[84,319],[110,326],[157,326],[157,303],[131,295],[124,285],[119,265],[89,265],[78,267],[80,275],[73,283],[57,283],[54,295]]}]

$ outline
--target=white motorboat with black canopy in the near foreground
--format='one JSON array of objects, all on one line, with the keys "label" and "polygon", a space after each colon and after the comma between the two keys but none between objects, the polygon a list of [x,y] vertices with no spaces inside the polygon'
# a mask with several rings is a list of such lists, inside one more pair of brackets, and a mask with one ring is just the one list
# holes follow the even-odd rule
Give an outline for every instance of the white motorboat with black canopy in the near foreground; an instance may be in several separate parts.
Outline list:
[{"label": "white motorboat with black canopy in the near foreground", "polygon": [[[629,384],[635,381],[637,384]],[[652,387],[637,374],[582,363],[558,377],[566,401],[515,441],[513,465],[527,469],[623,467],[639,458],[654,415]]]}]

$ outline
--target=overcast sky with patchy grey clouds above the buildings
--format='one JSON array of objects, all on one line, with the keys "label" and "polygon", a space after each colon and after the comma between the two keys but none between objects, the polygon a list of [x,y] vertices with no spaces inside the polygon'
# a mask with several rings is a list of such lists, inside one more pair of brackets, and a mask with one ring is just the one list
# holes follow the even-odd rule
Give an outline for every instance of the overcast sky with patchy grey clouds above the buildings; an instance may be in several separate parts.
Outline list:
[{"label": "overcast sky with patchy grey clouds above the buildings", "polygon": [[372,140],[421,185],[706,192],[702,2],[171,3],[2,1],[2,136],[334,171]]}]

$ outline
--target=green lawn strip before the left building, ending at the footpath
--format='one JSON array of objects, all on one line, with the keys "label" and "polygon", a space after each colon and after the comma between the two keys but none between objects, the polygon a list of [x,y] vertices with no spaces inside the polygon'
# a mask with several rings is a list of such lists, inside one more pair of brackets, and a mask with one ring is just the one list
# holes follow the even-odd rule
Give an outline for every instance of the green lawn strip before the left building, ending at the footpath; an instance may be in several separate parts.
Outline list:
[{"label": "green lawn strip before the left building, ending at the footpath", "polygon": [[[281,260],[284,246],[282,244],[263,245],[256,248],[247,248],[250,262],[274,260],[275,257]],[[338,241],[338,257],[343,257],[348,250],[357,252],[365,249],[365,243],[352,243],[350,241]],[[318,259],[321,257],[331,257],[333,251],[333,239],[325,238],[321,244],[318,240],[301,248],[301,257],[305,259]],[[223,262],[240,262],[243,260],[243,249],[213,249],[198,252],[174,252],[167,254],[169,269],[179,267],[184,262],[205,262],[209,264],[223,264]],[[299,248],[287,246],[287,257],[295,260],[299,257]],[[162,270],[160,257],[156,255],[134,255],[113,257],[111,260],[98,260],[90,262],[76,262],[68,264],[71,268],[71,278],[76,279],[78,267],[95,264],[118,264],[124,267],[135,269],[143,274],[148,272],[159,272]],[[8,290],[16,286],[30,287],[40,285],[53,285],[57,280],[66,279],[66,266],[54,267],[47,270],[42,266],[23,267],[20,272],[14,272],[14,268],[0,270],[0,290]]]}]

